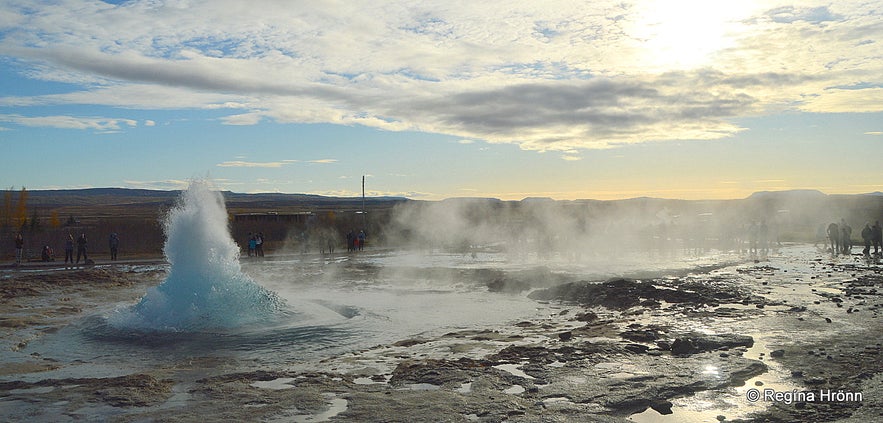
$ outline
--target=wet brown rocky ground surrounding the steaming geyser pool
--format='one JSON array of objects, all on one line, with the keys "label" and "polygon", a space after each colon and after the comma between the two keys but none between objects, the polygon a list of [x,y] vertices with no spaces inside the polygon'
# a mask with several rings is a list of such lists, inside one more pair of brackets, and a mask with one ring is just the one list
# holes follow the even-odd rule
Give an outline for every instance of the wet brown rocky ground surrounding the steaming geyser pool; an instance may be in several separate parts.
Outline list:
[{"label": "wet brown rocky ground surrounding the steaming geyser pool", "polygon": [[[489,289],[529,292],[555,312],[286,369],[242,372],[225,359],[205,357],[122,376],[43,378],[63,364],[29,356],[0,364],[0,416],[874,421],[883,419],[881,270],[857,256],[831,257],[805,247],[655,279],[535,288],[548,281],[504,276]],[[0,330],[2,347],[10,351],[4,356],[15,357],[29,339],[100,304],[131,300],[162,274],[125,268],[4,273]],[[764,389],[779,396],[749,401],[749,391]],[[823,391],[843,395],[823,399]]]}]

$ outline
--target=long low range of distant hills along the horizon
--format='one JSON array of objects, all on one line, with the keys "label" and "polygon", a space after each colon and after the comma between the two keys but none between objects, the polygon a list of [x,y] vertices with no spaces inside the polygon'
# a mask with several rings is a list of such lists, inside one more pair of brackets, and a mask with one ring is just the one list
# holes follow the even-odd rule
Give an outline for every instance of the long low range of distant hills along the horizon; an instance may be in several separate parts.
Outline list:
[{"label": "long low range of distant hills along the horizon", "polygon": [[[130,188],[87,188],[64,190],[28,191],[28,205],[48,211],[55,210],[63,215],[82,215],[105,210],[115,213],[113,207],[126,210],[140,208],[153,213],[167,209],[174,204],[180,191],[162,191]],[[328,197],[314,194],[259,193],[244,194],[223,192],[228,209],[233,213],[254,211],[317,211],[317,210],[359,210],[361,197]],[[13,193],[13,198],[17,197]],[[588,207],[598,213],[647,213],[653,215],[661,210],[678,216],[716,215],[729,216],[732,220],[770,218],[787,213],[791,219],[807,223],[813,221],[854,219],[856,222],[883,218],[883,193],[859,195],[828,195],[818,190],[761,191],[744,199],[733,200],[676,200],[651,197],[637,197],[624,200],[574,200],[556,201],[549,198],[525,198],[522,201],[502,201],[496,198],[449,198],[441,201],[410,200],[404,197],[367,197],[365,207],[369,209],[391,208],[400,203],[414,204],[457,204],[461,207],[477,208],[488,206],[518,207],[552,204]],[[152,210],[152,211],[151,211]],[[489,209],[490,210],[490,209]],[[639,213],[639,214],[640,214]]]}]

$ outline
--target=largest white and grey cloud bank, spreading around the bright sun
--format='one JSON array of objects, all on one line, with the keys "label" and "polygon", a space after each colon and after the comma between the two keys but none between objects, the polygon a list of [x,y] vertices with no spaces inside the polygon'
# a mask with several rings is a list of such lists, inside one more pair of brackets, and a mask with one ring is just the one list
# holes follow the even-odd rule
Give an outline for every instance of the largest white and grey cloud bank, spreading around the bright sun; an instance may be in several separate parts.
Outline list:
[{"label": "largest white and grey cloud bank, spreading around the bright sun", "polygon": [[[653,4],[11,4],[0,55],[82,88],[0,105],[230,110],[223,124],[357,124],[562,152],[718,139],[743,130],[736,119],[787,109],[883,110],[873,3]],[[41,120],[125,125],[3,121]]]}]

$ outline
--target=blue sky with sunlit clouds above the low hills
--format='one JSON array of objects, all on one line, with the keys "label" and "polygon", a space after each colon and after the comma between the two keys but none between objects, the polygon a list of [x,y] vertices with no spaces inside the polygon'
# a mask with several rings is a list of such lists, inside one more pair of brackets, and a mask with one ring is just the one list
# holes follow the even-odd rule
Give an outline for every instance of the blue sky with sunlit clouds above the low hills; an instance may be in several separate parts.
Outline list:
[{"label": "blue sky with sunlit clouds above the low hills", "polygon": [[0,0],[0,184],[883,191],[883,0]]}]

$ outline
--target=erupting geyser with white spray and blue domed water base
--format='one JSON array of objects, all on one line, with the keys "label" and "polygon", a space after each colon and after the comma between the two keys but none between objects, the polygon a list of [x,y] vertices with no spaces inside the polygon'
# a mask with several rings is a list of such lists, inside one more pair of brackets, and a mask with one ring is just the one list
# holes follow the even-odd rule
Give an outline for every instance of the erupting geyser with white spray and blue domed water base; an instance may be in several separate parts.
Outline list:
[{"label": "erupting geyser with white spray and blue domed water base", "polygon": [[233,328],[268,320],[278,296],[242,273],[239,247],[227,223],[223,196],[193,181],[164,222],[166,280],[141,301],[110,318],[111,326],[151,331]]}]

